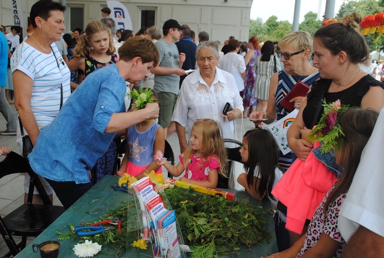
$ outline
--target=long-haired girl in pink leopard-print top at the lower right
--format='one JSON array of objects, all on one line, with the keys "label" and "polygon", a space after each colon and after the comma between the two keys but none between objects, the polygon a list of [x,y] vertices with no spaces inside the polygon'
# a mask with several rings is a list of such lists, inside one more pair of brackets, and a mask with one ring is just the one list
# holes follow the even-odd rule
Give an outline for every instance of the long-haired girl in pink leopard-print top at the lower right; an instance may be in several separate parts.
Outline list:
[{"label": "long-haired girl in pink leopard-print top at the lower right", "polygon": [[336,163],[342,176],[317,207],[307,233],[291,248],[270,255],[277,257],[340,257],[346,245],[338,227],[338,212],[348,194],[353,176],[360,163],[362,150],[372,134],[378,117],[375,110],[353,108],[340,114],[338,124],[343,131],[334,141]]}]

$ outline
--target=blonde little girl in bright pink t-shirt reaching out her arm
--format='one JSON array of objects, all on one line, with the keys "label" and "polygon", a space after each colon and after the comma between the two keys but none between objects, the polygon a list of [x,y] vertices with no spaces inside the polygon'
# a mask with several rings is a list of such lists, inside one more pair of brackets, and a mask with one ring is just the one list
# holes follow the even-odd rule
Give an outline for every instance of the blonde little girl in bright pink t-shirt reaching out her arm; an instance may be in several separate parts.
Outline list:
[{"label": "blonde little girl in bright pink t-shirt reaching out her arm", "polygon": [[173,176],[179,176],[185,170],[180,181],[215,188],[218,173],[226,176],[224,167],[227,154],[220,131],[220,125],[214,120],[197,120],[190,132],[191,145],[180,155],[180,163],[173,166],[164,158],[161,162],[155,162],[158,166],[164,165]]}]

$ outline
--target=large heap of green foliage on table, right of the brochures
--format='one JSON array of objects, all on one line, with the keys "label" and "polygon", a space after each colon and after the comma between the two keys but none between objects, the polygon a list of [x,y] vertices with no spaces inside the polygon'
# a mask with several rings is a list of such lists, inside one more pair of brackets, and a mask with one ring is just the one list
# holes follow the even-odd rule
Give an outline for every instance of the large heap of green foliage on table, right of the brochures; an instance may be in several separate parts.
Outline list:
[{"label": "large heap of green foliage on table, right of the brochures", "polygon": [[229,201],[223,196],[196,194],[180,187],[167,188],[164,192],[176,210],[184,241],[194,251],[191,257],[251,250],[252,245],[266,243],[271,238],[263,227],[267,218],[262,207],[246,201]]}]

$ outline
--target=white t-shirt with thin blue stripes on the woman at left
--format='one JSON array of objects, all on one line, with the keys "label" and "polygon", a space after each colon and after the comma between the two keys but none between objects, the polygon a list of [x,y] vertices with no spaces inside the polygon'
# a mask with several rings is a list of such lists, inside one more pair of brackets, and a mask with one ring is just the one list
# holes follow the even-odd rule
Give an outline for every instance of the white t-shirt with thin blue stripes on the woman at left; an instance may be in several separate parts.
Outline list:
[{"label": "white t-shirt with thin blue stripes on the woman at left", "polygon": [[[51,124],[60,109],[60,85],[64,104],[71,94],[71,72],[63,61],[55,43],[53,52],[40,51],[23,42],[13,53],[11,71],[20,70],[33,80],[31,108],[37,125]],[[57,67],[55,55],[59,68]]]}]

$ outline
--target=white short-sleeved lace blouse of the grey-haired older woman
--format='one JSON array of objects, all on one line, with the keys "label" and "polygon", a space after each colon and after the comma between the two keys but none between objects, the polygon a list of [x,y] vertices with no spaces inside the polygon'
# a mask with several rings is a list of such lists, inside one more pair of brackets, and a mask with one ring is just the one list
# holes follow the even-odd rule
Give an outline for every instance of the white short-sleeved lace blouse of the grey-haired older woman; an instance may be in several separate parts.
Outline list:
[{"label": "white short-sleeved lace blouse of the grey-haired older woman", "polygon": [[233,109],[244,110],[243,99],[233,75],[216,68],[215,80],[208,87],[198,69],[183,81],[172,121],[178,122],[183,127],[188,126],[190,133],[197,119],[211,118],[220,123],[224,138],[234,139],[234,121],[228,122],[222,115],[227,102]]}]

